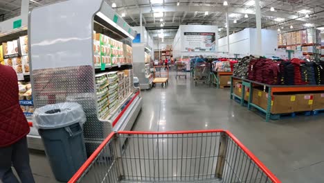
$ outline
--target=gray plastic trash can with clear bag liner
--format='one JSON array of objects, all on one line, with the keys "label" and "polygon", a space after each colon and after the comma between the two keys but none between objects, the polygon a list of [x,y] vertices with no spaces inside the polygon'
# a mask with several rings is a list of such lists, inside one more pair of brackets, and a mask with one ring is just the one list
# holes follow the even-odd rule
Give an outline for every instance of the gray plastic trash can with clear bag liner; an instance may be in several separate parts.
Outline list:
[{"label": "gray plastic trash can with clear bag liner", "polygon": [[87,160],[82,125],[86,116],[78,103],[57,103],[35,110],[35,127],[55,179],[68,182]]}]

